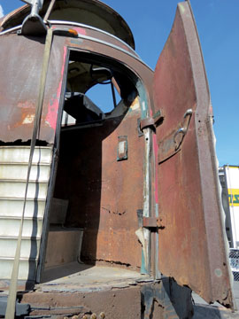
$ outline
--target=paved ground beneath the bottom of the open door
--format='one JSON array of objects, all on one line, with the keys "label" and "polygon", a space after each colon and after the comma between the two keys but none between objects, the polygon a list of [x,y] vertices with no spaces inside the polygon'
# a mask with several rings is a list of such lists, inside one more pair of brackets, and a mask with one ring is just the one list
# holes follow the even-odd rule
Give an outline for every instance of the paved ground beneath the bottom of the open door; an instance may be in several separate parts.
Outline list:
[{"label": "paved ground beneath the bottom of the open door", "polygon": [[[234,295],[235,304],[239,309],[239,282],[234,282]],[[195,301],[195,315],[194,319],[227,319],[227,318],[238,318],[239,311],[232,313],[225,307],[222,307],[219,303],[215,302],[213,305],[208,305],[202,298],[196,293],[193,293],[193,299]]]}]

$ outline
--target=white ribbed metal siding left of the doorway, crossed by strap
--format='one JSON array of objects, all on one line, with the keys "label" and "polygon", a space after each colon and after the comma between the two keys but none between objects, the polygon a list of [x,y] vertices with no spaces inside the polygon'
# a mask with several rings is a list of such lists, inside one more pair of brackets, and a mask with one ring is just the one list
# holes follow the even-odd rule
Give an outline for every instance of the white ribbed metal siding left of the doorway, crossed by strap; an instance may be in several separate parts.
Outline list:
[{"label": "white ribbed metal siding left of the doorway, crossed by strap", "polygon": [[[0,147],[0,280],[10,280],[27,180],[30,146]],[[19,280],[35,280],[52,147],[35,147],[27,191]],[[0,284],[3,285],[2,281]]]}]

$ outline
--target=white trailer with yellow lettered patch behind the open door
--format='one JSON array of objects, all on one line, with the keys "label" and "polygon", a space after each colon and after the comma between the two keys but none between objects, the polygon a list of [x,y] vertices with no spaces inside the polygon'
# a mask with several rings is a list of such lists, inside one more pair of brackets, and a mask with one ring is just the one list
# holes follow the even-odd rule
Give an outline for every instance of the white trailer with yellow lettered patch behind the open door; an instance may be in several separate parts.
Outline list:
[{"label": "white trailer with yellow lettered patch behind the open door", "polygon": [[239,280],[239,167],[220,167],[220,184],[230,246],[229,261],[235,280]]}]

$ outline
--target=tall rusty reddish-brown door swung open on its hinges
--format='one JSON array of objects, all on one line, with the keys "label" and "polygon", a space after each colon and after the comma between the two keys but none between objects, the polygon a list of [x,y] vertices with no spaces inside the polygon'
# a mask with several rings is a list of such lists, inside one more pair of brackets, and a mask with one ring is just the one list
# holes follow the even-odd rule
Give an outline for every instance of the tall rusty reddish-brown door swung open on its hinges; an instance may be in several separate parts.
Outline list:
[{"label": "tall rusty reddish-brown door swung open on its hinges", "polygon": [[[178,4],[155,70],[158,267],[204,300],[233,307],[212,105],[189,2]],[[156,196],[157,201],[157,196]]]}]

